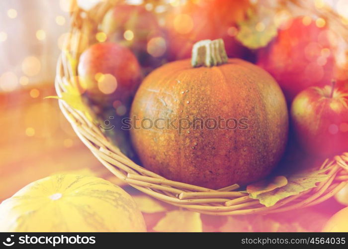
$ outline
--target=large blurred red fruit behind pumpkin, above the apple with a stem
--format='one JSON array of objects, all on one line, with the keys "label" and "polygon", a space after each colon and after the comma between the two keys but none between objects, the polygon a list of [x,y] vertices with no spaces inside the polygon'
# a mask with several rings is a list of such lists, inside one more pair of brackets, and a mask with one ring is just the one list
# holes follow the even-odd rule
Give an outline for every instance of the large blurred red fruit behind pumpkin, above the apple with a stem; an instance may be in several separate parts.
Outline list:
[{"label": "large blurred red fruit behind pumpkin, above the apple with a stem", "polygon": [[257,64],[279,83],[289,103],[302,90],[334,78],[334,34],[315,20],[296,18],[266,48]]}]

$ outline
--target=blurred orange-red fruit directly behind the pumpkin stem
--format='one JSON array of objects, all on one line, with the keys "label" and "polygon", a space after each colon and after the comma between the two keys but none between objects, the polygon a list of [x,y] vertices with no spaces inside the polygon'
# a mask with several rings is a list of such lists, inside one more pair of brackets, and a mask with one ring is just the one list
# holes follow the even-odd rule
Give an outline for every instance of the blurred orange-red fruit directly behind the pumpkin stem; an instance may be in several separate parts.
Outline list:
[{"label": "blurred orange-red fruit directly behind the pumpkin stem", "polygon": [[187,1],[170,10],[166,17],[169,60],[191,57],[194,43],[222,38],[229,57],[243,57],[248,49],[235,36],[237,22],[245,17],[249,0]]}]

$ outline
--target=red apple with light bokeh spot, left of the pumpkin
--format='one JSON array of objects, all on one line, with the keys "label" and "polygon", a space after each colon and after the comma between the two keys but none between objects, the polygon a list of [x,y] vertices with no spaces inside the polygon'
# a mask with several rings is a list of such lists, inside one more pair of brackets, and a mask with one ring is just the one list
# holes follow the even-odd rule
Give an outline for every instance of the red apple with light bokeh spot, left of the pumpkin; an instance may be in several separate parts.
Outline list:
[{"label": "red apple with light bokeh spot, left of the pumpkin", "polygon": [[119,101],[128,106],[140,82],[137,58],[116,43],[96,43],[80,57],[79,82],[88,98],[102,107]]}]

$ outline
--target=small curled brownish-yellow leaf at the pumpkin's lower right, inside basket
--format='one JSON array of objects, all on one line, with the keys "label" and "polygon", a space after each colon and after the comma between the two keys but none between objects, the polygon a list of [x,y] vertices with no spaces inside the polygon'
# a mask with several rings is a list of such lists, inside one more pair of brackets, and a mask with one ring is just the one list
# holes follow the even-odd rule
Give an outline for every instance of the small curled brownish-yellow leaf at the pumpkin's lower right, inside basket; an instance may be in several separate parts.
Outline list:
[{"label": "small curled brownish-yellow leaf at the pumpkin's lower right, inside basket", "polygon": [[269,181],[268,179],[248,185],[247,192],[251,198],[257,199],[257,196],[272,191],[276,188],[283,187],[287,184],[287,179],[285,176],[276,176]]}]

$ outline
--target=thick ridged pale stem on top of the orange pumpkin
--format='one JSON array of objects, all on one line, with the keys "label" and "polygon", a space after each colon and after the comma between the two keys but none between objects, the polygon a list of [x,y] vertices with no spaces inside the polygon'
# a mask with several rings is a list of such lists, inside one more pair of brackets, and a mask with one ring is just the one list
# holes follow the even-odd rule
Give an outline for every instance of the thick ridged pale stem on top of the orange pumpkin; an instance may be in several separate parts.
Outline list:
[{"label": "thick ridged pale stem on top of the orange pumpkin", "polygon": [[192,67],[212,67],[227,63],[228,57],[223,39],[201,40],[192,47]]}]

